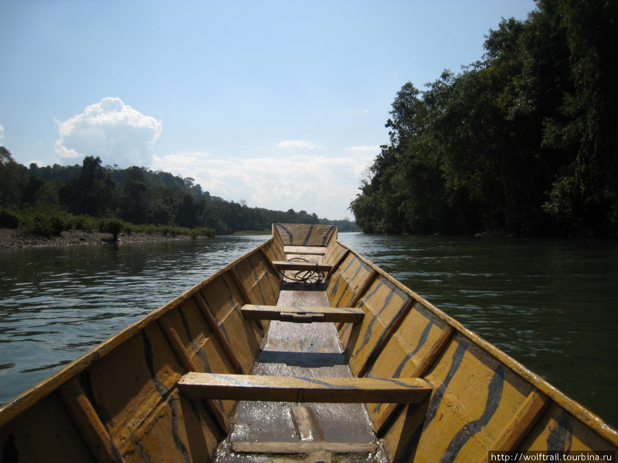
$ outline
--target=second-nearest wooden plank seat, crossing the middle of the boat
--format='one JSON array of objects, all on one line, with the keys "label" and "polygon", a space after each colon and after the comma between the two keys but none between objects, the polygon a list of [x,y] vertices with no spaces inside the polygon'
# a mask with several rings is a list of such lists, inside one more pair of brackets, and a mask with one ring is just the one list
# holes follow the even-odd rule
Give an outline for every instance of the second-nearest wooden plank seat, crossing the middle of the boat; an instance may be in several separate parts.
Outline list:
[{"label": "second-nearest wooden plank seat, crossing the middle of the boat", "polygon": [[249,319],[279,320],[282,322],[345,322],[358,323],[363,320],[363,309],[347,307],[285,307],[279,305],[242,306],[242,313]]}]

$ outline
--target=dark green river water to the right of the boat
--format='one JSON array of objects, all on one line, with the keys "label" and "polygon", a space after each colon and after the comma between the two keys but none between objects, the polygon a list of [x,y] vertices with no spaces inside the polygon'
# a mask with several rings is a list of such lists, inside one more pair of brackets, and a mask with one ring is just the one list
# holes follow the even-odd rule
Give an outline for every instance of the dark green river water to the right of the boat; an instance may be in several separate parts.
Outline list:
[{"label": "dark green river water to the right of the boat", "polygon": [[618,427],[618,242],[340,241]]}]

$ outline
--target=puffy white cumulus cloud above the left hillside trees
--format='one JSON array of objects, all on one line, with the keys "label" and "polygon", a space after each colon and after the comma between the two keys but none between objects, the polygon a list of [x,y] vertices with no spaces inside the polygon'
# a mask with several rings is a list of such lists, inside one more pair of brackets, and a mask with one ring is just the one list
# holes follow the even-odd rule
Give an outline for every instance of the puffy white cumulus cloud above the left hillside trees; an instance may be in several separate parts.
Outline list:
[{"label": "puffy white cumulus cloud above the left hillside trees", "polygon": [[56,155],[60,161],[100,156],[104,164],[148,166],[154,157],[152,146],[161,134],[161,121],[112,97],[56,123],[60,134]]}]

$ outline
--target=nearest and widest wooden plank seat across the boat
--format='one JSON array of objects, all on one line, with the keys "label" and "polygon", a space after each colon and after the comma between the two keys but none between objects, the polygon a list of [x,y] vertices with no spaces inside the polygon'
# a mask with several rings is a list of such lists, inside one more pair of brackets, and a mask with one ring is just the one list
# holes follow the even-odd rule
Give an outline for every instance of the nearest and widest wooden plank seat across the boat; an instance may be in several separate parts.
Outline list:
[{"label": "nearest and widest wooden plank seat across the boat", "polygon": [[421,403],[422,378],[321,378],[189,372],[178,381],[190,399],[315,403]]}]

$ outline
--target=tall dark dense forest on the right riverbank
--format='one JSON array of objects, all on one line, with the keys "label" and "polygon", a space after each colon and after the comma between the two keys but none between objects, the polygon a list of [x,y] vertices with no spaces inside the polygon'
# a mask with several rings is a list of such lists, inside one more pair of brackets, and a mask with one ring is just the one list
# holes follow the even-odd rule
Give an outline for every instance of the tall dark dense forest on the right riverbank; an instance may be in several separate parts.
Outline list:
[{"label": "tall dark dense forest on the right riverbank", "polygon": [[350,209],[367,233],[618,235],[618,2],[538,0],[482,60],[397,93]]}]

